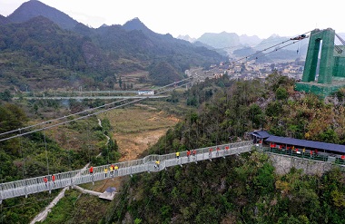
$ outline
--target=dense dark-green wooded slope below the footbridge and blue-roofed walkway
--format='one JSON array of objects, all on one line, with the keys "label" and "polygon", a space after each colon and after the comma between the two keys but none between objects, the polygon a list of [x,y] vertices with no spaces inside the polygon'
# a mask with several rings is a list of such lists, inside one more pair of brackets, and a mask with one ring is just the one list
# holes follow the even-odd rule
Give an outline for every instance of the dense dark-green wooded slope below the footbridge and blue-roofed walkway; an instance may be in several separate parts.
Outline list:
[{"label": "dense dark-green wooded slope below the footbridge and blue-roofed walkway", "polygon": [[[202,161],[131,180],[127,210],[112,221],[132,223],[342,223],[344,173],[321,178],[291,170],[278,176],[267,155]],[[331,186],[331,187],[330,187]],[[121,199],[121,195],[119,195]],[[129,200],[130,199],[130,200]],[[340,202],[341,201],[341,202]],[[131,216],[128,216],[128,213]]]}]

